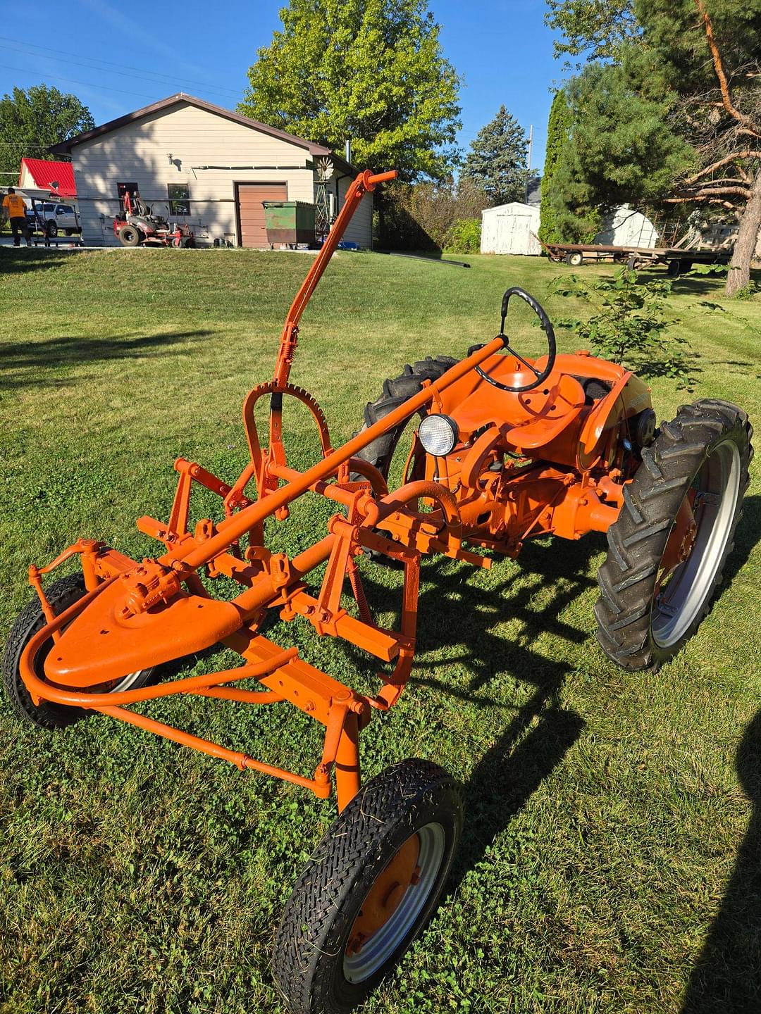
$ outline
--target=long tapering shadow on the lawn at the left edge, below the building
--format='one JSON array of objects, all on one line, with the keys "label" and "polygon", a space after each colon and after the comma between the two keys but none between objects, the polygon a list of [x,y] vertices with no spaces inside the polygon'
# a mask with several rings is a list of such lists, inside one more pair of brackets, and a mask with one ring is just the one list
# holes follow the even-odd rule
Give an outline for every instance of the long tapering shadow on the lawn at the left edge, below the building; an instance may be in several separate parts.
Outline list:
[{"label": "long tapering shadow on the lawn at the left edge, below the building", "polygon": [[[0,390],[61,386],[87,375],[71,373],[77,367],[116,359],[143,359],[161,355],[183,342],[199,342],[214,334],[208,329],[162,332],[158,335],[128,333],[114,338],[65,335],[41,342],[0,342]],[[65,373],[54,372],[66,370]]]}]

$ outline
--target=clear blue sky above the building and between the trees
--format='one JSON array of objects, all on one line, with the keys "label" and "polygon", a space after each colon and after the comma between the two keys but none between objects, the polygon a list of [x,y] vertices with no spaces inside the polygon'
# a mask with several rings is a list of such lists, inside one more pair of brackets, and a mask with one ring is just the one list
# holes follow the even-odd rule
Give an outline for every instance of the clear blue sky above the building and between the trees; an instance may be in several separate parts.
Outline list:
[{"label": "clear blue sky above the building and between the trees", "polygon": [[[45,81],[73,91],[95,123],[176,91],[233,108],[256,50],[269,44],[282,0],[36,0],[0,3],[0,93]],[[464,78],[468,147],[504,103],[534,125],[532,165],[541,168],[551,95],[561,76],[544,0],[431,0],[447,59]],[[134,27],[133,27],[134,26]],[[0,139],[0,143],[2,139]],[[32,152],[29,152],[32,154]]]}]

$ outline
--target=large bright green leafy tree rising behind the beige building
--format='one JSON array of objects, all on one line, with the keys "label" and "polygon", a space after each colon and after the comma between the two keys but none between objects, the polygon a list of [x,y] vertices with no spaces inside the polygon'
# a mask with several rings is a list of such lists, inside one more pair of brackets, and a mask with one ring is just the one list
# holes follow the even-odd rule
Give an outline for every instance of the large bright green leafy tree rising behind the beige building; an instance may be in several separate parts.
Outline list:
[{"label": "large bright green leafy tree rising behind the beige building", "polygon": [[290,0],[249,70],[240,113],[403,178],[449,175],[455,68],[427,0]]}]

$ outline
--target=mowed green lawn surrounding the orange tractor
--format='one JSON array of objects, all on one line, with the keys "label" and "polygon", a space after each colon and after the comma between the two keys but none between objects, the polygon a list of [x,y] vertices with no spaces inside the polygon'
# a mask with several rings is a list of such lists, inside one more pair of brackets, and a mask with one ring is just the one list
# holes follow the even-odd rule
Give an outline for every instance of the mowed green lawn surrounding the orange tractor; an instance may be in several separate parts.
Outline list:
[{"label": "mowed green lawn surrounding the orange tractor", "polygon": [[[577,308],[548,290],[562,268],[468,260],[469,271],[336,257],[291,376],[334,442],[406,362],[491,338],[508,285],[551,316]],[[0,250],[0,641],[29,598],[30,562],[80,535],[156,552],[134,519],[168,515],[175,457],[238,474],[243,397],[271,376],[309,263]],[[692,395],[652,381],[661,420],[701,395],[761,418],[761,300],[720,291],[703,277],[675,284],[700,372]],[[521,334],[538,351],[538,333]],[[562,331],[559,343],[577,344]],[[303,466],[316,440],[300,411],[286,413]],[[368,1012],[761,1009],[760,504],[756,470],[721,595],[656,675],[619,671],[595,640],[602,537],[530,545],[488,572],[424,563],[413,677],[363,733],[362,763],[366,777],[405,756],[442,764],[463,782],[466,827],[438,915]],[[199,498],[197,516],[215,509]],[[331,513],[305,498],[268,535],[297,552]],[[390,618],[398,574],[362,569]],[[366,685],[373,671],[300,622],[269,636],[339,679]],[[222,664],[234,658],[180,671]],[[304,774],[319,757],[318,727],[286,705],[166,699],[144,711]],[[270,950],[334,802],[106,718],[47,735],[5,701],[0,760],[3,1014],[284,1010]]]}]

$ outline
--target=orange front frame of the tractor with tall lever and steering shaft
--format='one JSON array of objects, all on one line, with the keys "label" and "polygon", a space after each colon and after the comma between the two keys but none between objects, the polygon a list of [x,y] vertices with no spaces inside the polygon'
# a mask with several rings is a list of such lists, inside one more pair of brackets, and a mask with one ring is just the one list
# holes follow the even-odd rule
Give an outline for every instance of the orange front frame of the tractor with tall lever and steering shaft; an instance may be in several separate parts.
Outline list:
[{"label": "orange front frame of the tractor with tall lever and steering shaft", "polygon": [[[241,771],[253,769],[309,788],[320,798],[327,798],[330,793],[330,773],[333,769],[340,808],[358,791],[359,729],[369,721],[373,709],[386,710],[398,700],[410,674],[419,581],[420,554],[414,549],[414,539],[413,546],[400,546],[372,529],[383,519],[388,519],[389,523],[395,520],[399,523],[404,516],[409,527],[432,527],[428,540],[438,536],[439,540],[443,539],[443,550],[457,555],[460,539],[455,535],[460,526],[455,499],[447,491],[435,487],[435,484],[425,483],[411,487],[406,494],[400,491],[393,497],[389,496],[384,477],[367,461],[355,455],[390,425],[406,418],[411,409],[429,404],[438,396],[439,390],[501,347],[500,340],[490,343],[451,371],[451,375],[441,378],[436,385],[416,395],[414,405],[397,410],[383,424],[369,427],[338,450],[331,446],[328,426],[317,402],[306,391],[288,382],[298,322],[309,296],[363,195],[373,190],[377,183],[393,178],[394,175],[395,173],[388,172],[373,176],[369,172],[363,172],[350,187],[344,207],[291,305],[281,336],[275,377],[269,383],[255,387],[244,404],[244,425],[251,461],[238,480],[229,486],[201,465],[178,458],[175,462],[179,473],[178,490],[168,521],[162,523],[149,517],[138,520],[141,531],[163,542],[165,552],[162,556],[155,561],[143,561],[140,565],[100,542],[80,539],[49,566],[29,569],[30,583],[40,596],[48,621],[30,639],[20,661],[21,677],[34,703],[46,700],[58,705],[98,711],[228,760]],[[263,452],[254,421],[254,408],[256,402],[265,394],[269,394],[271,399],[270,441],[267,451]],[[286,463],[281,438],[281,405],[284,394],[296,397],[309,409],[320,434],[323,460],[303,474],[289,468]],[[350,470],[359,474],[362,481],[350,481]],[[257,488],[257,496],[253,501],[246,494],[252,480]],[[194,483],[204,486],[222,499],[224,519],[217,524],[210,520],[200,521],[195,531],[191,532],[188,522]],[[337,514],[329,524],[326,537],[292,560],[271,554],[263,546],[264,521],[273,515],[279,518],[287,516],[288,504],[308,491],[342,505],[346,509],[346,516]],[[406,510],[406,504],[420,496],[432,497],[440,504],[444,526],[453,525],[451,540],[448,533],[440,535],[438,532],[438,515],[417,515]],[[244,536],[249,537],[245,559],[238,550],[239,539]],[[354,564],[354,558],[363,550],[385,553],[404,566],[402,622],[401,630],[397,633],[378,628],[371,622],[359,572]],[[55,615],[43,589],[42,575],[76,554],[81,560],[86,594],[74,605]],[[320,594],[315,597],[307,592],[303,577],[323,563],[327,563],[327,571]],[[171,638],[166,633],[167,622],[172,606],[177,607],[178,603],[198,600],[200,607],[203,603],[210,605],[214,601],[210,599],[197,573],[201,567],[205,567],[211,577],[232,577],[245,587],[231,603],[219,603],[223,609],[233,607],[236,610],[238,620],[233,625],[235,629],[224,629],[220,634],[214,627],[212,610],[210,630],[204,631],[201,640],[195,643],[197,645],[208,641],[211,646],[221,641],[237,651],[245,664],[236,669],[175,679],[140,690],[101,690],[110,680],[118,681],[119,676],[124,675],[124,672],[117,671],[119,661],[114,662],[113,671],[109,669],[109,649],[115,637],[113,628],[129,623],[142,625],[135,626],[129,633],[129,643],[144,642],[146,668],[185,653],[177,650],[176,643],[169,643]],[[351,577],[351,587],[360,605],[360,619],[350,615],[341,606],[347,574]],[[117,605],[113,602],[109,604],[112,599],[117,601]],[[302,615],[319,633],[344,637],[380,661],[393,663],[390,672],[379,673],[382,687],[377,696],[366,697],[344,686],[300,659],[295,648],[280,649],[260,635],[258,627],[264,612],[273,607],[279,608],[284,619]],[[95,626],[101,627],[99,633],[105,635],[97,655],[93,654],[91,638],[88,643],[88,635],[83,628],[80,629],[93,614],[97,621]],[[41,649],[51,639],[57,648],[66,653],[67,658],[73,654],[79,660],[84,659],[80,665],[82,671],[76,677],[67,677],[56,671],[56,658],[60,662],[63,655],[56,656],[52,661],[48,659],[45,663],[39,659]],[[106,661],[102,655],[107,656]],[[244,679],[256,680],[260,689],[230,685]],[[72,683],[78,683],[79,686]],[[96,686],[98,690],[88,692],[88,686]],[[325,725],[323,754],[314,776],[306,778],[264,764],[247,753],[227,749],[129,710],[130,705],[174,694],[195,694],[258,705],[289,701]]]}]

